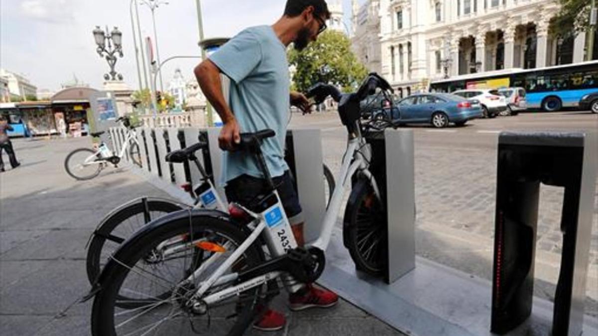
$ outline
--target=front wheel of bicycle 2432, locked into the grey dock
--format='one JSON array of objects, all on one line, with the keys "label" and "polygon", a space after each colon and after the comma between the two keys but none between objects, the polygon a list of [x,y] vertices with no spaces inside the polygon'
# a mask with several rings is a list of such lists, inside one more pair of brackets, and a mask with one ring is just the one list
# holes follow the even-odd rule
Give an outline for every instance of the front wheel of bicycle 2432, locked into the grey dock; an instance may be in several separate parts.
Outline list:
[{"label": "front wheel of bicycle 2432, locked into the grey dock", "polygon": [[379,276],[388,263],[388,219],[382,204],[367,183],[356,186],[347,206],[343,235],[358,270]]}]

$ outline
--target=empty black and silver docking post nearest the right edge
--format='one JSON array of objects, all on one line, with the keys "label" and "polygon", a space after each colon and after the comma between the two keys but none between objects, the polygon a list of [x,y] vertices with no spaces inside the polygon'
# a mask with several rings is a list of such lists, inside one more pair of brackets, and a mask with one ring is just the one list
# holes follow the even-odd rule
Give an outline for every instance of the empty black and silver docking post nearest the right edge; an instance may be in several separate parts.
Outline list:
[{"label": "empty black and silver docking post nearest the right edge", "polygon": [[581,335],[596,182],[596,138],[584,133],[502,133],[498,148],[491,331],[532,313],[540,184],[565,188],[563,251],[553,335]]}]

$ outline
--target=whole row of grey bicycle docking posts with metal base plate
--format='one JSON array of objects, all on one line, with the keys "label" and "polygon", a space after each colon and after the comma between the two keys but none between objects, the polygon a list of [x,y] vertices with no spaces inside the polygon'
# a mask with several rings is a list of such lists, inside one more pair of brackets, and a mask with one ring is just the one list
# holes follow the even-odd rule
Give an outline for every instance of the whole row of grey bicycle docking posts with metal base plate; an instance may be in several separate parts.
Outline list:
[{"label": "whole row of grey bicycle docking posts with metal base plate", "polygon": [[[219,185],[219,129],[138,132],[148,181],[158,181],[154,184],[158,188],[188,200],[188,194],[172,185],[170,175],[158,175],[164,158],[156,154],[163,151],[156,133],[166,134],[170,151],[207,140],[208,150],[197,157]],[[583,133],[500,136],[493,282],[415,256],[413,132],[388,129],[365,138],[373,152],[370,170],[386,200],[388,267],[382,277],[356,270],[344,246],[343,231],[336,225],[319,284],[407,334],[539,336],[552,330],[553,335],[578,336],[582,328],[584,335],[598,334],[596,319],[585,316],[583,320],[596,182],[595,138]],[[286,144],[286,160],[306,219],[306,242],[311,242],[320,234],[325,213],[320,131],[292,130]],[[199,181],[194,164],[179,166],[183,169],[173,170],[177,184]],[[554,304],[533,297],[540,183],[565,187],[562,266]],[[500,259],[496,259],[498,253]]]}]

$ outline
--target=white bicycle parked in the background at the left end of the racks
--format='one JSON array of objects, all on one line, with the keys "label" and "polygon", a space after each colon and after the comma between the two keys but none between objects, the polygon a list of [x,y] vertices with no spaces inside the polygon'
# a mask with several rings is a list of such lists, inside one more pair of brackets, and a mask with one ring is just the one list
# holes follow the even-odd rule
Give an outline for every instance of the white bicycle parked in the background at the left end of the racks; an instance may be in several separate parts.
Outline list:
[{"label": "white bicycle parked in the background at the left end of the racks", "polygon": [[[127,130],[120,152],[114,153],[103,141],[97,149],[75,149],[65,159],[65,169],[69,175],[80,181],[93,179],[109,165],[118,167],[118,163],[123,160],[125,155],[129,155],[137,166],[142,166],[135,126],[132,126],[129,117],[120,117],[117,122],[121,122]],[[90,133],[90,135],[96,138],[104,133],[106,132]]]}]

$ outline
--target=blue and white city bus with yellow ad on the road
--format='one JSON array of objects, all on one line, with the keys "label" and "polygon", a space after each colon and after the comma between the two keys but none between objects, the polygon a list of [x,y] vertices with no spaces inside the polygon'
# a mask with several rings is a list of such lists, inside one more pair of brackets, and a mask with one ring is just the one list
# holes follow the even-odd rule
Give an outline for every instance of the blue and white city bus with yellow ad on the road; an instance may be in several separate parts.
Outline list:
[{"label": "blue and white city bus with yellow ad on the road", "polygon": [[559,111],[579,107],[586,94],[598,92],[598,60],[536,69],[506,69],[432,81],[431,92],[465,88],[523,87],[528,109]]}]

